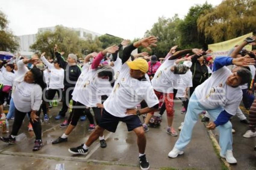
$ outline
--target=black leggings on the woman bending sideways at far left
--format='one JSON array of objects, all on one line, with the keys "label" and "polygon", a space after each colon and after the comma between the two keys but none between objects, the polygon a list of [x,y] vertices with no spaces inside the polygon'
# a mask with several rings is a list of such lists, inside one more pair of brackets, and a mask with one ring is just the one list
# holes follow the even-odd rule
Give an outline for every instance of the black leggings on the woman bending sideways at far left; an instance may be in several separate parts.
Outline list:
[{"label": "black leggings on the woman bending sideways at far left", "polygon": [[[20,126],[22,125],[22,122],[23,122],[23,119],[24,117],[26,116],[27,113],[25,112],[21,112],[21,111],[18,111],[16,108],[15,108],[15,111],[14,111],[14,123],[12,125],[12,132],[11,132],[11,135],[14,135],[14,136],[17,136],[19,130],[20,130]],[[29,117],[30,117],[30,112],[28,113],[29,114]],[[40,116],[40,112],[36,112],[36,115],[39,117]],[[30,123],[33,127],[33,131],[36,135],[36,140],[42,140],[42,126],[41,126],[41,120],[39,118],[37,118],[35,121],[34,120],[34,123],[32,122],[31,119],[30,120]]]}]

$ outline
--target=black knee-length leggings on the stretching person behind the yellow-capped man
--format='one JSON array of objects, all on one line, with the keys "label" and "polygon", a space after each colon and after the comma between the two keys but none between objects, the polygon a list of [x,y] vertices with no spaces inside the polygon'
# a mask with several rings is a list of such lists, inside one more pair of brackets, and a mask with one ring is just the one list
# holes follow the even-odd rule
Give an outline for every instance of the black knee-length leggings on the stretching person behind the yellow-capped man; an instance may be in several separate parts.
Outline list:
[{"label": "black knee-length leggings on the stretching person behind the yellow-capped man", "polygon": [[[88,117],[88,120],[89,120],[90,124],[94,124],[93,116],[92,116],[89,108],[85,109],[85,105],[83,105],[80,102],[76,102],[75,106],[80,106],[81,108],[72,109],[72,113],[70,114],[70,117],[69,117],[69,120],[68,120],[68,122],[70,122],[71,125],[76,126],[80,116],[83,113],[85,113],[86,117]],[[94,115],[95,115],[96,123],[98,124],[98,122],[101,118],[101,108],[92,108],[92,110],[93,110]]]}]

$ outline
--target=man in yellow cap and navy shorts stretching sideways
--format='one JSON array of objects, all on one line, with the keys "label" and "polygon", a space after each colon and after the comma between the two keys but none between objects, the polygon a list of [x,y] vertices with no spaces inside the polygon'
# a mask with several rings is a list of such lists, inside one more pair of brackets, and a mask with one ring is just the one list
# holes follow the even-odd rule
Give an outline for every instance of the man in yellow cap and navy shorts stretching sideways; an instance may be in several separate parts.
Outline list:
[{"label": "man in yellow cap and navy shorts stretching sideways", "polygon": [[[122,68],[117,78],[113,91],[108,99],[103,103],[101,120],[96,129],[89,136],[85,144],[70,148],[69,152],[73,154],[87,154],[89,146],[98,139],[101,132],[105,129],[115,132],[119,121],[126,123],[128,131],[134,131],[137,135],[139,147],[140,168],[147,170],[149,163],[145,155],[146,137],[142,128],[139,115],[158,109],[158,98],[154,93],[150,81],[145,78],[148,71],[148,63],[144,59],[135,59],[127,61],[131,52],[139,46],[156,46],[157,38],[150,36],[143,38],[133,44],[130,44],[123,50]],[[148,107],[137,110],[142,100],[145,100]]]}]

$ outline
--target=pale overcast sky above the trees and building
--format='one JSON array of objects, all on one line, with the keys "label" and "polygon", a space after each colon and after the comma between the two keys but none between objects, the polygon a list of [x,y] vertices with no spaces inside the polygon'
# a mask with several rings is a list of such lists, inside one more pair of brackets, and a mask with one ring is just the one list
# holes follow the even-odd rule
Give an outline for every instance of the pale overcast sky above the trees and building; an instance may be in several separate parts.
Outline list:
[{"label": "pale overcast sky above the trees and building", "polygon": [[[216,6],[222,0],[208,0]],[[205,0],[0,0],[0,10],[15,35],[37,33],[38,28],[63,25],[121,38],[140,38],[158,17],[183,18],[189,8]]]}]

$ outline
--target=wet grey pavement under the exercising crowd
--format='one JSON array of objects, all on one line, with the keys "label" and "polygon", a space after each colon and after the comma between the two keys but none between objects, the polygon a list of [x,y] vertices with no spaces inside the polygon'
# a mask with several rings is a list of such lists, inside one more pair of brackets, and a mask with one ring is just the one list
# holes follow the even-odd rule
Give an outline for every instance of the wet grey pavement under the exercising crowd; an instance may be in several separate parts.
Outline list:
[{"label": "wet grey pavement under the exercising crowd", "polygon": [[[84,143],[89,137],[89,122],[79,121],[77,127],[69,135],[68,142],[52,145],[51,141],[63,134],[64,128],[59,124],[63,120],[55,120],[61,104],[52,108],[49,112],[50,120],[42,121],[42,150],[33,152],[34,133],[28,132],[28,119],[25,118],[17,136],[17,143],[8,145],[0,142],[0,167],[1,169],[55,169],[56,164],[64,163],[65,169],[139,169],[137,138],[134,132],[128,132],[125,123],[120,123],[116,133],[105,131],[105,138],[108,146],[101,148],[99,141],[95,141],[89,148],[87,156],[73,156],[68,148],[76,147]],[[174,128],[183,121],[185,115],[180,114],[181,103],[175,103]],[[43,115],[41,115],[41,119]],[[68,114],[66,114],[67,118]],[[13,120],[10,120],[10,125]],[[255,165],[255,152],[253,150],[253,139],[242,138],[242,128],[246,126],[236,119],[233,119],[234,129],[234,155],[238,159],[236,166],[232,169],[253,169]],[[222,160],[214,151],[212,141],[204,124],[198,120],[192,140],[186,147],[185,153],[175,159],[168,158],[167,154],[172,149],[178,137],[166,133],[166,113],[163,115],[161,126],[150,128],[146,132],[147,147],[146,155],[150,163],[150,169],[223,169]],[[241,126],[241,127],[240,127]],[[241,134],[240,134],[240,129]],[[11,130],[11,126],[10,126]],[[179,133],[179,132],[178,132]],[[241,143],[244,145],[241,147]],[[240,148],[240,149],[239,149]],[[244,148],[244,149],[242,149]],[[241,154],[241,153],[245,153]],[[253,157],[254,156],[254,157]],[[246,165],[246,166],[245,166]],[[245,168],[246,167],[246,168]]]}]

